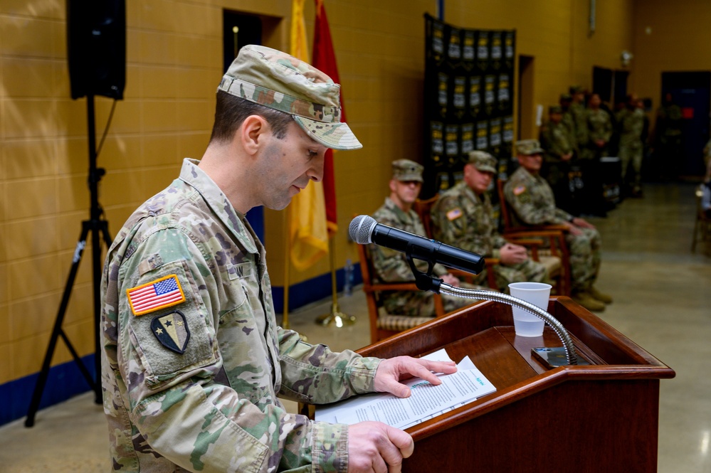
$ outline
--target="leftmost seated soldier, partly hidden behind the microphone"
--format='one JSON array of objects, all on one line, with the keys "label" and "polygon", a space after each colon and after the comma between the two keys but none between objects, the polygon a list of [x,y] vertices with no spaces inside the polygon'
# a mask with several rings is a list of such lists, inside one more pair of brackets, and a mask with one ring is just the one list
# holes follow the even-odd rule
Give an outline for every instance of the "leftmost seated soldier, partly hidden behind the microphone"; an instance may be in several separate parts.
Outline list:
[{"label": "leftmost seated soldier, partly hidden behind the microphone", "polygon": [[[398,228],[415,235],[425,235],[422,220],[412,210],[412,204],[417,200],[422,188],[423,167],[421,164],[409,159],[393,161],[392,166],[393,177],[390,180],[390,196],[385,198],[385,203],[373,214],[373,218],[383,225]],[[369,248],[373,258],[375,276],[380,282],[415,280],[404,253],[373,243],[369,245]],[[427,270],[426,262],[414,261],[418,270],[423,272]],[[459,285],[457,277],[449,274],[446,267],[442,265],[434,265],[433,275],[436,275],[448,285]],[[426,291],[390,291],[384,294],[383,305],[388,314],[434,317],[433,298],[434,294]],[[442,294],[442,304],[445,312],[452,312],[475,302],[477,301],[474,299],[462,299]]]}]

